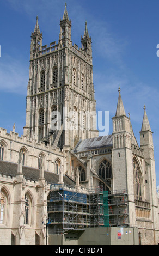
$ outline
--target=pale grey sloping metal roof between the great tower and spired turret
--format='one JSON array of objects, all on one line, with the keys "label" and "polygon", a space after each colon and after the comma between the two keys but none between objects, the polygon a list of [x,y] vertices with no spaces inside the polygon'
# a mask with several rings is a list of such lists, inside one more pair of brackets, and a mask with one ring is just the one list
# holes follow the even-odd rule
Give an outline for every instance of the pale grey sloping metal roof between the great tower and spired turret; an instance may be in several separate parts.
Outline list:
[{"label": "pale grey sloping metal roof between the great tower and spired turret", "polygon": [[100,149],[112,146],[112,135],[100,136],[96,138],[84,139],[79,141],[74,152],[82,152],[91,149]]}]

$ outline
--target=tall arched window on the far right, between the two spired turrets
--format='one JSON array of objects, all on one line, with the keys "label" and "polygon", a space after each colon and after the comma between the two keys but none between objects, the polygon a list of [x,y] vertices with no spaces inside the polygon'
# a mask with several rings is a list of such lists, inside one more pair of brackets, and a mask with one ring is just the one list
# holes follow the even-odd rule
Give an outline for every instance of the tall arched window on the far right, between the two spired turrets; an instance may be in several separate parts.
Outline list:
[{"label": "tall arched window on the far right, between the two spired turrets", "polygon": [[133,174],[134,174],[134,184],[135,184],[135,192],[136,199],[142,200],[142,174],[140,172],[139,164],[136,159],[133,159]]}]

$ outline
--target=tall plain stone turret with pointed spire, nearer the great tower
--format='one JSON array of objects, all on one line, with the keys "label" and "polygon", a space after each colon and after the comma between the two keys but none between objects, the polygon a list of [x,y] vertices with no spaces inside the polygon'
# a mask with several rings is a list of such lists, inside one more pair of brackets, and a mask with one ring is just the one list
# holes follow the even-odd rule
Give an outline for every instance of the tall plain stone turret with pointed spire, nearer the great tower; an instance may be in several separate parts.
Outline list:
[{"label": "tall plain stone turret with pointed spire, nearer the great tower", "polygon": [[133,225],[135,216],[134,191],[133,191],[133,166],[131,148],[131,124],[126,117],[120,88],[117,111],[113,120],[113,190],[124,191],[128,194],[129,223]]}]

